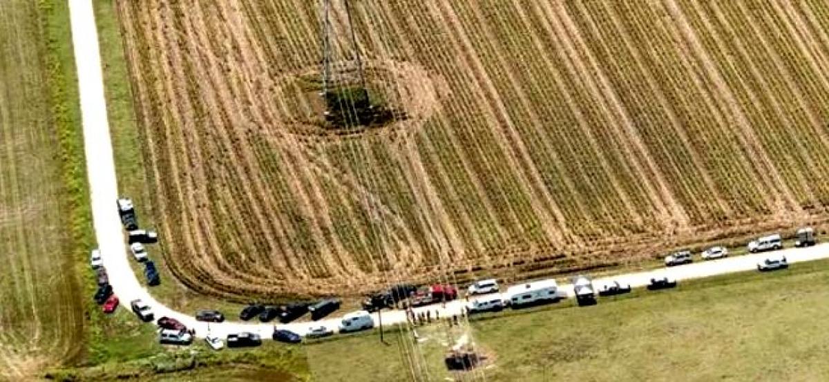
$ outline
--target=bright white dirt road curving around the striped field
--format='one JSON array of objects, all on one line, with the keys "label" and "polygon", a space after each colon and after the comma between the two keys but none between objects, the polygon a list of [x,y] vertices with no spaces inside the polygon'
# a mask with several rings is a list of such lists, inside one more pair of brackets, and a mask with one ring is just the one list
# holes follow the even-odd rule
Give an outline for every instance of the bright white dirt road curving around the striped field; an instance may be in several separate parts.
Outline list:
[{"label": "bright white dirt road curving around the striped field", "polygon": [[[72,40],[75,45],[75,60],[80,82],[80,107],[84,123],[84,144],[86,165],[89,174],[92,214],[95,220],[95,236],[99,248],[104,255],[104,266],[109,272],[115,294],[126,306],[130,300],[141,298],[148,302],[156,317],[173,317],[188,327],[196,329],[196,336],[203,337],[208,331],[205,322],[196,322],[190,315],[182,312],[173,312],[155,301],[129,268],[124,233],[115,200],[118,198],[118,185],[115,177],[115,166],[112,144],[109,137],[109,123],[107,121],[106,103],[104,101],[104,80],[101,72],[101,62],[98,34],[95,29],[95,14],[91,0],[70,0]],[[785,249],[790,263],[829,258],[829,244],[817,245],[809,249]],[[613,279],[622,283],[629,283],[632,287],[641,287],[649,282],[652,276],[667,275],[678,280],[686,278],[701,278],[716,274],[732,273],[751,270],[757,262],[764,258],[764,254],[745,255],[729,259],[720,259],[705,263],[683,265],[676,268],[658,269],[642,273],[619,275]],[[602,283],[603,279],[596,280]],[[505,288],[506,289],[506,288]],[[569,285],[564,290],[572,296],[573,290]],[[463,307],[463,301],[451,302],[446,307],[423,307],[419,310],[439,310],[441,316],[458,314]],[[229,317],[236,312],[225,312]],[[376,320],[376,317],[375,317]],[[401,311],[383,313],[383,324],[391,325],[405,321],[405,313]],[[316,323],[296,323],[279,325],[304,334],[310,326],[325,325],[330,328],[338,326],[339,319],[332,318]],[[149,325],[149,324],[148,324]],[[262,336],[270,336],[274,330],[271,324],[248,324],[240,322],[224,322],[210,324],[209,330],[217,336],[224,337],[238,331],[257,332]]]}]

